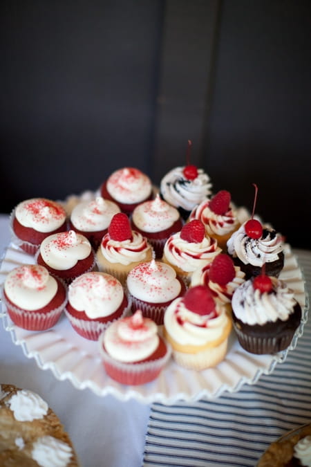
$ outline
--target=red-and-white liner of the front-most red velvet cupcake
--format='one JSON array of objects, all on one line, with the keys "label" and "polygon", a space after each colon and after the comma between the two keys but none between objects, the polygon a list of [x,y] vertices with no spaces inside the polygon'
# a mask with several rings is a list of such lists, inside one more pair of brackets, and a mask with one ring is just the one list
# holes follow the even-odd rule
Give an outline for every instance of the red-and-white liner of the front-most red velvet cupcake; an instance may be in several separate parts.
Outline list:
[{"label": "red-and-white liner of the front-most red velvet cupcake", "polygon": [[171,347],[166,342],[167,353],[157,360],[143,363],[122,363],[114,360],[107,354],[103,344],[104,333],[100,336],[100,355],[104,363],[106,373],[118,383],[126,385],[140,385],[149,383],[157,378],[164,365],[171,357]]}]

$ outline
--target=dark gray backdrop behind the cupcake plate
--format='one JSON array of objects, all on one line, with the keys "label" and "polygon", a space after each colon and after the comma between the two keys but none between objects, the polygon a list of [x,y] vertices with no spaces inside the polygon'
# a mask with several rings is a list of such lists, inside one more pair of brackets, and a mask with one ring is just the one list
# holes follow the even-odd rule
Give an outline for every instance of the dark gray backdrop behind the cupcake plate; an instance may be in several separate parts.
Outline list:
[{"label": "dark gray backdrop behind the cupcake plate", "polygon": [[0,212],[185,163],[310,248],[310,1],[1,3]]}]

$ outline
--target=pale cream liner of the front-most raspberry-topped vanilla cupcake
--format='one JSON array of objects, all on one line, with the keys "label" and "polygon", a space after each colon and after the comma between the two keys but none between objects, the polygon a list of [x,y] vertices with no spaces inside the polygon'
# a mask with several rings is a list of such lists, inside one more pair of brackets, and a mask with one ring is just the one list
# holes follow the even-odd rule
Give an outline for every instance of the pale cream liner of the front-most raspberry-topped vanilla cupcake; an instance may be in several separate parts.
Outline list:
[{"label": "pale cream liner of the front-most raspberry-topped vanilla cupcake", "polygon": [[208,349],[197,352],[196,354],[186,354],[184,352],[173,349],[173,359],[181,367],[187,369],[202,369],[216,367],[227,353],[228,340],[225,339],[217,347],[209,347]]}]

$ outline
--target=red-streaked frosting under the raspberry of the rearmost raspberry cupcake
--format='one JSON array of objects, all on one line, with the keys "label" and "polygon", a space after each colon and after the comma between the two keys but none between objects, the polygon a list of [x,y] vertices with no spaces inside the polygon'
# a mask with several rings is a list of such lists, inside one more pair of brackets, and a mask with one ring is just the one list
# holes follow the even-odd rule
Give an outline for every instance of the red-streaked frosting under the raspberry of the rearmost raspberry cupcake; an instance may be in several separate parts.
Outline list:
[{"label": "red-streaked frosting under the raspberry of the rearmost raspberry cupcake", "polygon": [[190,220],[199,219],[205,226],[207,235],[227,235],[238,226],[236,211],[232,204],[225,214],[216,214],[209,208],[210,199],[203,200],[190,214]]}]

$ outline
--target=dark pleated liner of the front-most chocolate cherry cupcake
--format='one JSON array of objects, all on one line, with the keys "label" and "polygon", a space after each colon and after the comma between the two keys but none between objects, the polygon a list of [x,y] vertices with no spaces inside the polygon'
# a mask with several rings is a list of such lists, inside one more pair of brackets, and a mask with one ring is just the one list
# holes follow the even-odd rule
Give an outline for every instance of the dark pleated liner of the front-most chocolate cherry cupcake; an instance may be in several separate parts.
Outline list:
[{"label": "dark pleated liner of the front-most chocolate cherry cupcake", "polygon": [[241,329],[238,329],[235,323],[234,330],[236,331],[236,336],[238,337],[238,342],[241,347],[250,354],[257,355],[276,354],[279,351],[287,349],[294,336],[294,330],[285,332],[280,336],[248,336],[246,333],[243,333]]}]

